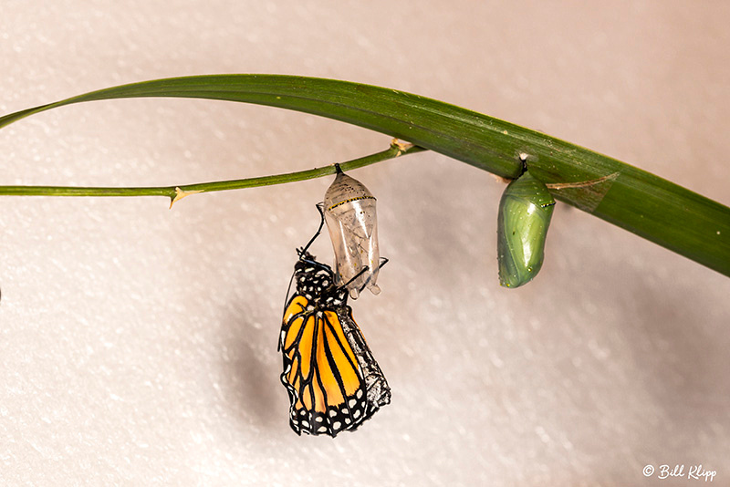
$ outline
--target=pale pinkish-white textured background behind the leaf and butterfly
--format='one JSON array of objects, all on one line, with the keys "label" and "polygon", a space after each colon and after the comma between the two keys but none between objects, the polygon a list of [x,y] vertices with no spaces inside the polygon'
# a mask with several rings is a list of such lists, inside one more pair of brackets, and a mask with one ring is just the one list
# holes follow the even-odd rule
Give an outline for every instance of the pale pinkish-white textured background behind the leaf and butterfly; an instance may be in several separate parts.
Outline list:
[{"label": "pale pinkish-white textured background behind the leaf and butterfly", "polygon": [[[3,114],[151,78],[341,78],[543,130],[730,204],[725,2],[0,6]],[[0,130],[0,184],[235,179],[388,141],[281,109],[96,102]],[[558,205],[542,273],[506,290],[490,174],[425,153],[352,175],[378,197],[391,258],[382,295],[354,308],[393,400],[336,440],[289,430],[276,353],[294,248],[329,179],[172,211],[0,197],[0,484],[682,484],[644,478],[662,463],[730,483],[730,279]]]}]

